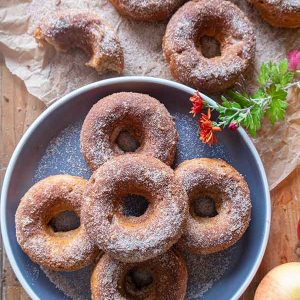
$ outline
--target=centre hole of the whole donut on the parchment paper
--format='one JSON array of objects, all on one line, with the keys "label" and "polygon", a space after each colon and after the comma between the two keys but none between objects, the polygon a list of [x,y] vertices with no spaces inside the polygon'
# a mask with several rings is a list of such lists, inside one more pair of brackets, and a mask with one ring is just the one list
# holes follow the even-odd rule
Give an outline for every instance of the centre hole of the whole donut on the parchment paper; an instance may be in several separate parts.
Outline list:
[{"label": "centre hole of the whole donut on the parchment paper", "polygon": [[209,35],[202,35],[196,42],[197,49],[206,58],[214,58],[221,56],[221,43],[214,37]]}]

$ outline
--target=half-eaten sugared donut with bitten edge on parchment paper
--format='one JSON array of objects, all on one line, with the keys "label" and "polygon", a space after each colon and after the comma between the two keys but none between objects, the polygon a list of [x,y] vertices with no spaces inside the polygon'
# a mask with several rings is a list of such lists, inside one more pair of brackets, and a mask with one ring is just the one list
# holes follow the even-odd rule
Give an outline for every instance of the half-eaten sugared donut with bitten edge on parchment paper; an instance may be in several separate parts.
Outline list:
[{"label": "half-eaten sugared donut with bitten edge on parchment paper", "polygon": [[118,37],[92,13],[59,12],[47,16],[34,31],[39,46],[49,43],[57,51],[80,48],[90,56],[86,63],[99,73],[121,73],[124,55]]}]

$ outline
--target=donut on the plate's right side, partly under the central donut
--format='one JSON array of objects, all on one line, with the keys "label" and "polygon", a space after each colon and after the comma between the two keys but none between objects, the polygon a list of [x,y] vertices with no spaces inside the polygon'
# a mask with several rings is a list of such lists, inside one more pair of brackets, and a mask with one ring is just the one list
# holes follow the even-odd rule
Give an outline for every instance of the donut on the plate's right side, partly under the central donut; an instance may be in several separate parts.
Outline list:
[{"label": "donut on the plate's right side, partly under the central donut", "polygon": [[185,233],[178,246],[196,254],[225,250],[249,226],[250,192],[246,181],[220,159],[196,158],[175,170],[190,203]]}]

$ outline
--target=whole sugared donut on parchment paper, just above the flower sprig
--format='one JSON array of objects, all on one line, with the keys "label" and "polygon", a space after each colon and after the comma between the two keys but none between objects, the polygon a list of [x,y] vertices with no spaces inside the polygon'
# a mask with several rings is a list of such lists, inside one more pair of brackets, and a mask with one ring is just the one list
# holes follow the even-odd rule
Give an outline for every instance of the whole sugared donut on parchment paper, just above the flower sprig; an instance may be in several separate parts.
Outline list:
[{"label": "whole sugared donut on parchment paper, just above the flower sprig", "polygon": [[[221,54],[208,58],[201,38],[220,43]],[[189,1],[173,15],[163,38],[163,52],[176,80],[207,93],[231,87],[255,54],[253,26],[233,3]]]}]

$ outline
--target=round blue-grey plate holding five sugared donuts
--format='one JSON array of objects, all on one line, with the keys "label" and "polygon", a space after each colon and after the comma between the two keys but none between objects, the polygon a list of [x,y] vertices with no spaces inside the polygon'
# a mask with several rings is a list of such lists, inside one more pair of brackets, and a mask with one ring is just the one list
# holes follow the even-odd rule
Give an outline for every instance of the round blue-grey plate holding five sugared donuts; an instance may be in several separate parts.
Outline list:
[{"label": "round blue-grey plate holding five sugared donuts", "polygon": [[[33,299],[66,299],[18,246],[14,221],[16,208],[28,188],[43,177],[59,173],[89,177],[79,150],[81,122],[97,100],[121,91],[150,94],[164,103],[174,116],[180,134],[175,165],[194,157],[219,157],[237,168],[248,182],[252,220],[236,246],[239,255],[201,298],[238,299],[259,267],[269,235],[270,197],[261,160],[243,129],[235,133],[223,131],[218,146],[201,144],[197,138],[197,121],[189,114],[191,104],[188,99],[194,90],[175,82],[147,77],[121,77],[82,87],[50,106],[24,134],[9,163],[1,195],[4,246],[19,281]],[[205,99],[213,103],[208,97]],[[53,142],[53,139],[56,140]],[[218,269],[219,266],[213,267]]]}]

